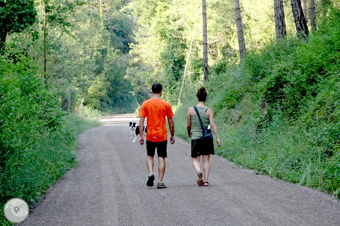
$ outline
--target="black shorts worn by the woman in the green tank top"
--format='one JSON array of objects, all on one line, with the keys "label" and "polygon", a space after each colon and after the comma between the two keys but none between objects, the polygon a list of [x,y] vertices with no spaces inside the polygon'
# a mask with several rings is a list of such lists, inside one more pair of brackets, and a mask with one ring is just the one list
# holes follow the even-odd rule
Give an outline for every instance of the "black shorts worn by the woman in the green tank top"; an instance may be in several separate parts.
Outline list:
[{"label": "black shorts worn by the woman in the green tank top", "polygon": [[214,155],[214,140],[212,137],[191,140],[191,157],[200,155]]}]

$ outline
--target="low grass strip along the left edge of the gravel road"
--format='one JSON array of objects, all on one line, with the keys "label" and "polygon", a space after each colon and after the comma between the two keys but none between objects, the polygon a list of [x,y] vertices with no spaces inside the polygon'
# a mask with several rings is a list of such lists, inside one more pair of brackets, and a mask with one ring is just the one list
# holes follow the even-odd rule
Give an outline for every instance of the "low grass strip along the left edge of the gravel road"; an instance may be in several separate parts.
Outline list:
[{"label": "low grass strip along the left edge of the gravel road", "polygon": [[[8,178],[3,180],[3,195],[7,201],[13,197],[25,200],[30,208],[39,202],[48,187],[53,185],[72,167],[77,166],[77,137],[90,128],[100,126],[101,112],[84,107],[79,115],[62,117],[63,126],[52,133],[44,133],[32,142],[32,146],[7,160]],[[82,116],[87,114],[87,118]],[[4,209],[5,202],[0,204]],[[15,225],[9,222],[4,211],[0,211],[1,225]]]}]

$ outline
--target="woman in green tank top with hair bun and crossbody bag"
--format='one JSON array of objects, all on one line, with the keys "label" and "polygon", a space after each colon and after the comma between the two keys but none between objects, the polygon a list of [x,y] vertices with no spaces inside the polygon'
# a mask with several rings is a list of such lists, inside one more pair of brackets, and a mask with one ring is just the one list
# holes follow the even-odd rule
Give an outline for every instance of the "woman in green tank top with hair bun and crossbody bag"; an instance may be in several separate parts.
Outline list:
[{"label": "woman in green tank top with hair bun and crossbody bag", "polygon": [[[204,105],[207,99],[207,91],[204,87],[201,87],[197,93],[197,99],[199,103],[196,105],[197,111],[201,117],[202,123],[204,127],[211,126],[212,131],[214,132],[217,139],[217,147],[220,147],[220,137],[217,133],[217,127],[214,121],[214,114],[212,109],[206,107]],[[191,138],[191,157],[192,157],[192,165],[195,168],[198,176],[197,183],[199,186],[208,186],[208,177],[210,173],[210,155],[213,155],[214,152],[214,144],[213,138],[204,138],[202,134],[202,126],[199,120],[199,117],[193,107],[188,108],[187,112],[187,129],[188,136]],[[209,128],[210,129],[210,128]],[[204,172],[204,180],[203,173],[201,172],[201,155],[203,159],[203,172]]]}]

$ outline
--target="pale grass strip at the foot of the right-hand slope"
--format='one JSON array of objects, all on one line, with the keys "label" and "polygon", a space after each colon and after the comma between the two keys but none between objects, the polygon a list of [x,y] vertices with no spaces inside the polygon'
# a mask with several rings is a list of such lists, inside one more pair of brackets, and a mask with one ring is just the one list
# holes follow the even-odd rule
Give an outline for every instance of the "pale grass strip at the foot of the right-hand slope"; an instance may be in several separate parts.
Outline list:
[{"label": "pale grass strip at the foot of the right-hand slope", "polygon": [[[187,142],[187,107],[196,103],[183,102],[175,111],[175,135]],[[209,103],[206,103],[209,106]],[[256,109],[256,107],[258,107]],[[315,133],[325,127],[314,128],[311,132],[302,125],[292,125],[277,117],[272,125],[257,131],[259,106],[254,104],[236,125],[228,124],[221,115],[215,117],[221,147],[214,144],[215,154],[250,169],[256,174],[269,175],[284,181],[333,194],[340,197],[340,152],[329,157],[327,147],[315,145]],[[241,111],[241,110],[239,110]],[[215,140],[215,137],[214,137]]]}]

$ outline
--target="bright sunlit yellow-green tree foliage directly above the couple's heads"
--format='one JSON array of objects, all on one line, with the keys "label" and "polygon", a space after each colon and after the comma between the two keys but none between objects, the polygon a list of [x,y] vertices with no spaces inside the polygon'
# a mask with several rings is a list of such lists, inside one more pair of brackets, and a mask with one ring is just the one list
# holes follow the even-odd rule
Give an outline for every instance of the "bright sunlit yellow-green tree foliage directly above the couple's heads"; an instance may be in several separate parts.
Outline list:
[{"label": "bright sunlit yellow-green tree foliage directly above the couple's heads", "polygon": [[[208,3],[208,54],[209,63],[236,58],[234,16],[229,9],[232,3],[212,1]],[[136,44],[131,45],[132,59],[127,78],[150,89],[153,82],[163,84],[163,98],[175,104],[180,93],[184,68],[191,40],[193,40],[184,92],[192,83],[203,77],[202,59],[202,2],[190,1],[133,1],[129,9],[138,24]],[[237,39],[236,39],[237,40]],[[147,92],[143,92],[148,97]]]}]

